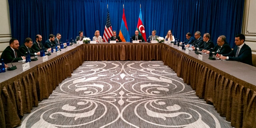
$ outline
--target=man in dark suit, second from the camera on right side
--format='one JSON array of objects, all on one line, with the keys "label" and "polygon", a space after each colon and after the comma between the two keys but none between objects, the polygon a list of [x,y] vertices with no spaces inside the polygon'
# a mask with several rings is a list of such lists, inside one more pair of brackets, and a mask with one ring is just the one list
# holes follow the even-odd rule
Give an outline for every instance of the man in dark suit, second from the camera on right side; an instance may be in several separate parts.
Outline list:
[{"label": "man in dark suit, second from the camera on right side", "polygon": [[[231,52],[231,48],[226,42],[226,36],[221,35],[217,39],[217,44],[216,46],[212,49],[213,52],[215,52],[215,55],[218,54],[228,54]],[[206,52],[207,54],[210,53],[210,51]]]}]

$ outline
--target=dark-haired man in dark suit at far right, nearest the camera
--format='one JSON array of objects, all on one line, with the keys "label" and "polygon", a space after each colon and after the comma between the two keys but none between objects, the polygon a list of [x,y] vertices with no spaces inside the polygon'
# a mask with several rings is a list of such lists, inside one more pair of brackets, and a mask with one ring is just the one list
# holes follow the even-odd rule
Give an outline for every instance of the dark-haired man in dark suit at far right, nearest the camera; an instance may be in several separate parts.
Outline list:
[{"label": "dark-haired man in dark suit at far right, nearest the camera", "polygon": [[235,60],[245,64],[252,65],[252,50],[244,43],[244,34],[237,34],[235,37],[235,43],[237,47],[228,54],[220,54],[218,57],[223,60]]}]

